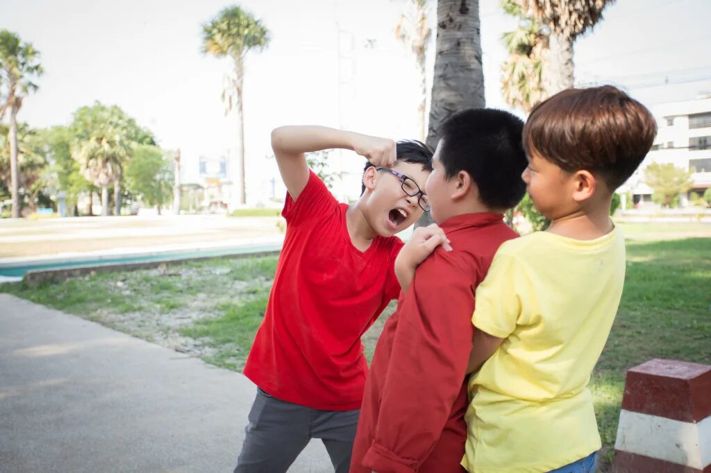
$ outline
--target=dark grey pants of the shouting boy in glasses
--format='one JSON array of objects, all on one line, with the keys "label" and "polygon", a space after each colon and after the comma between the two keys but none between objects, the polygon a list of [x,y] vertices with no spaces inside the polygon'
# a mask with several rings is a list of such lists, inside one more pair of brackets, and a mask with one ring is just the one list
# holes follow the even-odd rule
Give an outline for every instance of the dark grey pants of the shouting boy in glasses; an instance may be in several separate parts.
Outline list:
[{"label": "dark grey pants of the shouting boy in glasses", "polygon": [[359,413],[319,411],[257,388],[235,473],[286,472],[312,438],[324,442],[336,473],[348,473]]}]

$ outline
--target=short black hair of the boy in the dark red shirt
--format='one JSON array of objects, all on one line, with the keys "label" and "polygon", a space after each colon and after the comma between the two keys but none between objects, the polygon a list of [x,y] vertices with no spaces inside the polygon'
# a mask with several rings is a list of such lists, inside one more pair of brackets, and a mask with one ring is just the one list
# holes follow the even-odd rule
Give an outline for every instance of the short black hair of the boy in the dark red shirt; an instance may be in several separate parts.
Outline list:
[{"label": "short black hair of the boy in the dark red shirt", "polygon": [[523,120],[497,109],[467,109],[444,121],[439,161],[447,178],[466,171],[479,187],[479,199],[493,209],[514,207],[526,185]]}]

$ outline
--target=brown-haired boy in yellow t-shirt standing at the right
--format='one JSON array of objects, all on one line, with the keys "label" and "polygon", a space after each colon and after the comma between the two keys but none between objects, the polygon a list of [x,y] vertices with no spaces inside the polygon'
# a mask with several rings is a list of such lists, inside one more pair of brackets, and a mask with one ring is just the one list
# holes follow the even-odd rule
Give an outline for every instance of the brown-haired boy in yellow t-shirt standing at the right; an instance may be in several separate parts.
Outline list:
[{"label": "brown-haired boy in yellow t-shirt standing at the right", "polygon": [[649,111],[611,86],[568,89],[531,112],[523,180],[552,223],[504,243],[476,290],[469,472],[594,472],[601,445],[587,384],[625,273],[608,211],[655,134]]}]

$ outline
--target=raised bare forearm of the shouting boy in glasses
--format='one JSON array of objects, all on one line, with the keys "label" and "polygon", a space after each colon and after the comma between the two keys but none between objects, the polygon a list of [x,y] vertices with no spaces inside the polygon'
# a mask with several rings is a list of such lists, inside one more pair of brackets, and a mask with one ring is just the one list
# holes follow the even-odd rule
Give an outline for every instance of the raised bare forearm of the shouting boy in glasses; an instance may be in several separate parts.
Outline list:
[{"label": "raised bare forearm of the shouting boy in glasses", "polygon": [[335,148],[353,150],[353,143],[358,136],[360,135],[352,131],[327,126],[279,126],[272,131],[272,149],[277,155],[311,153]]}]

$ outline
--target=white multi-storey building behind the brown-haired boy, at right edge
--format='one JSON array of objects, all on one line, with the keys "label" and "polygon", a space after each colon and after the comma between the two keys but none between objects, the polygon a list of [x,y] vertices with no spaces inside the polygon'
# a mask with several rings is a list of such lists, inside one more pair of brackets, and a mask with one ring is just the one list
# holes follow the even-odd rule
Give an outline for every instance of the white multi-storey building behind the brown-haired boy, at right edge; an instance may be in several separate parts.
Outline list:
[{"label": "white multi-storey building behind the brown-haired boy, at right edge", "polygon": [[692,192],[702,195],[711,186],[711,96],[659,104],[652,113],[658,125],[654,146],[619,192],[631,192],[637,205],[651,205],[653,191],[644,181],[644,169],[651,163],[672,163],[694,171],[693,188],[680,197],[680,206],[686,207]]}]

